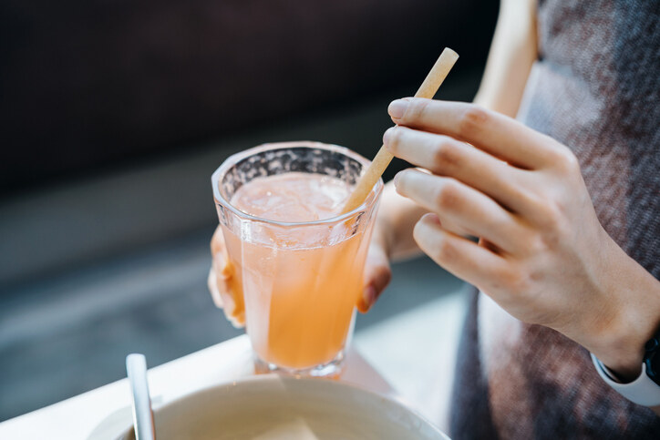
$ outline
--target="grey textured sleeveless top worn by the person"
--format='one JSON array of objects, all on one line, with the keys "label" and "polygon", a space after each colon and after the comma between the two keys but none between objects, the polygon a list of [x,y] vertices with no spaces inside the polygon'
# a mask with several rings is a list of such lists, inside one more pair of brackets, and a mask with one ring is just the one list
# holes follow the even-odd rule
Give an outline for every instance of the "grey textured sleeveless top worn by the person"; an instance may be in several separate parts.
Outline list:
[{"label": "grey textured sleeveless top worn by the person", "polygon": [[[660,279],[660,2],[541,0],[538,32],[519,119],[572,148],[604,229]],[[604,384],[586,350],[483,294],[453,401],[457,439],[660,438],[660,417]]]}]

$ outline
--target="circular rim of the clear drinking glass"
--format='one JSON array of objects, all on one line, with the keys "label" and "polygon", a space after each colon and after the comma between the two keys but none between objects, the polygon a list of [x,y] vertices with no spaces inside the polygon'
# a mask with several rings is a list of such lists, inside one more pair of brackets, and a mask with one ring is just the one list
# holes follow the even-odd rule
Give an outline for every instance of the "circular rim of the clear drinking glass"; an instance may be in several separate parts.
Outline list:
[{"label": "circular rim of the clear drinking glass", "polygon": [[[284,148],[316,148],[316,149],[325,149],[328,151],[335,151],[337,153],[341,153],[350,159],[355,159],[356,161],[360,162],[362,164],[363,169],[366,169],[366,167],[369,165],[370,161],[369,159],[366,159],[364,156],[357,154],[355,151],[341,147],[339,145],[335,144],[325,144],[323,142],[315,142],[315,141],[307,141],[307,140],[300,140],[300,141],[294,141],[294,142],[272,142],[272,143],[267,143],[267,144],[262,144],[253,148],[247,148],[244,149],[238,153],[232,154],[229,158],[225,159],[222,162],[222,165],[216,169],[213,174],[211,174],[211,186],[213,187],[213,199],[215,199],[216,203],[222,204],[223,207],[227,208],[228,210],[231,210],[233,214],[236,216],[246,219],[246,220],[253,220],[253,221],[260,221],[263,223],[269,223],[277,226],[317,226],[317,225],[324,225],[324,224],[333,224],[333,223],[338,223],[343,220],[350,219],[351,217],[355,216],[358,212],[360,211],[366,211],[368,210],[369,206],[373,203],[376,203],[376,200],[378,199],[378,195],[380,192],[383,190],[383,186],[385,185],[383,183],[383,179],[378,179],[376,182],[376,185],[374,186],[374,189],[371,189],[369,191],[369,194],[366,197],[366,200],[360,204],[355,210],[349,210],[345,214],[331,217],[329,219],[324,219],[324,220],[314,220],[314,221],[278,221],[278,220],[269,220],[269,219],[264,219],[263,217],[257,217],[252,214],[248,214],[243,212],[242,210],[238,210],[235,208],[232,203],[230,203],[229,200],[226,200],[224,197],[222,197],[222,194],[220,192],[220,179],[221,176],[223,176],[228,169],[230,169],[233,165],[238,163],[240,160],[245,159],[249,156],[252,156],[253,154],[261,153],[263,151],[267,151],[270,149],[284,149]],[[369,196],[374,193],[373,199],[371,199]]]}]

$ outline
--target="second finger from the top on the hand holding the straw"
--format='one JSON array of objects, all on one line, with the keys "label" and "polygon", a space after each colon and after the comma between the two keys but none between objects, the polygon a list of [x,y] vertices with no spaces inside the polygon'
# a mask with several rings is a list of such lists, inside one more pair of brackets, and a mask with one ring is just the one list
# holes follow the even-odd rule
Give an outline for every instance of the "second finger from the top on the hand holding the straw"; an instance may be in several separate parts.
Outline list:
[{"label": "second finger from the top on the hand holding the straw", "polygon": [[405,127],[389,128],[383,143],[397,158],[435,174],[459,179],[510,210],[526,209],[527,196],[521,190],[524,171],[479,148],[449,136]]}]

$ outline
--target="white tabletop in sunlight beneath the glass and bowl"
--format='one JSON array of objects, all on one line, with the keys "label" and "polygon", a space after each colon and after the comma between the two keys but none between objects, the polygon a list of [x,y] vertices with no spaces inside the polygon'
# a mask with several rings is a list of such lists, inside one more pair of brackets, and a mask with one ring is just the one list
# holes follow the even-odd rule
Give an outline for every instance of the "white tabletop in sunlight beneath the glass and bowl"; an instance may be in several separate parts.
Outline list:
[{"label": "white tabletop in sunlight beneath the glass and bowl", "polygon": [[[342,381],[394,397],[448,430],[466,298],[450,292],[356,333]],[[150,393],[158,406],[251,374],[252,350],[243,335],[150,369]],[[131,417],[124,379],[0,423],[0,440],[115,438]]]}]

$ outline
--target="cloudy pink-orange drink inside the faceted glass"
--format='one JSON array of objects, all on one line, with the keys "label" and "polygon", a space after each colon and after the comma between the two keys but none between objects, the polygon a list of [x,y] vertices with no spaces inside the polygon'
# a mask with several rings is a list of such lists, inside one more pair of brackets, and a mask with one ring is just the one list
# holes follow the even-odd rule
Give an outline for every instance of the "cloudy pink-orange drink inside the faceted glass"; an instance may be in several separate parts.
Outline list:
[{"label": "cloudy pink-orange drink inside the faceted glass", "polygon": [[[342,180],[291,172],[251,180],[231,203],[262,219],[305,222],[336,216],[349,193]],[[286,234],[269,228],[260,231],[259,244],[224,230],[232,291],[244,294],[248,333],[266,363],[299,370],[329,363],[343,349],[363,288],[364,235],[370,233],[346,238],[346,228],[339,224],[330,240],[314,228]]]}]

